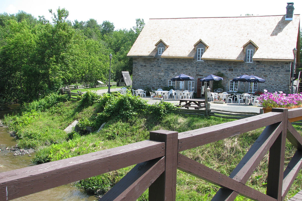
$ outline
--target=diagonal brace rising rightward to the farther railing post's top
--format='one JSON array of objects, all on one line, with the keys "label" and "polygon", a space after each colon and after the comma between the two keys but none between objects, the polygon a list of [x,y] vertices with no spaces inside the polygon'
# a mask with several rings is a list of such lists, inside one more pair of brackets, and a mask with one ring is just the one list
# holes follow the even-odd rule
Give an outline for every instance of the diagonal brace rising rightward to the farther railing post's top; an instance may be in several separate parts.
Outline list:
[{"label": "diagonal brace rising rightward to the farther railing post's top", "polygon": [[[268,149],[275,142],[281,131],[282,123],[276,123],[265,127],[229,177],[246,184],[249,177],[266,155]],[[221,188],[217,191],[211,201],[233,201],[237,195],[238,193],[233,190]]]}]

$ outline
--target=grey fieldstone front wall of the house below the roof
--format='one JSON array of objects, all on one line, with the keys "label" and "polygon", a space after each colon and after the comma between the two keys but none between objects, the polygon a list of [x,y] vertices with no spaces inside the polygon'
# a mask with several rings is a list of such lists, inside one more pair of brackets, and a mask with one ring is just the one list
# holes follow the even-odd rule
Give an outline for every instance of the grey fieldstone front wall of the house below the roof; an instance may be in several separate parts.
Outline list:
[{"label": "grey fieldstone front wall of the house below the roof", "polygon": [[[229,81],[242,75],[255,75],[265,79],[258,83],[258,90],[269,92],[283,91],[288,93],[290,85],[291,63],[286,61],[254,61],[254,63],[233,61],[195,61],[185,58],[133,58],[133,83],[135,89],[151,87],[153,90],[167,86],[168,80],[181,73],[194,77],[195,92],[197,78],[221,72],[224,74],[223,85],[228,91]],[[185,89],[187,82],[185,82]],[[245,84],[246,91],[248,84]],[[243,91],[244,83],[239,82],[239,91]]]}]

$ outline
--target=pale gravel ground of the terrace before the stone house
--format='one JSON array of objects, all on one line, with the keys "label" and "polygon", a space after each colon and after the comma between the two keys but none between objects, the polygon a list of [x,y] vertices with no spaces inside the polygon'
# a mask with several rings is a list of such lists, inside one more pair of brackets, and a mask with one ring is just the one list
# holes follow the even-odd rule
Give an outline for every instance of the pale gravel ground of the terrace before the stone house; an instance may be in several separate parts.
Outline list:
[{"label": "pale gravel ground of the terrace before the stone house", "polygon": [[[110,88],[111,92],[116,91],[115,88]],[[102,89],[102,90],[98,90],[96,93],[97,94],[103,94],[108,92],[108,89]],[[148,104],[152,105],[155,102],[160,102],[160,100],[154,100],[154,99],[150,99],[150,96],[146,97],[146,98],[142,98],[146,101],[148,101]],[[174,100],[174,99],[165,99],[164,101],[167,102],[171,102],[174,105],[179,104],[178,100]],[[262,107],[257,107],[257,106],[251,106],[251,105],[245,105],[245,104],[240,104],[238,105],[238,103],[226,103],[226,104],[217,104],[217,103],[212,103],[210,102],[210,109],[217,109],[217,110],[226,110],[226,111],[233,111],[233,112],[256,112],[259,113],[260,112],[260,108]],[[190,109],[194,109],[194,108],[190,108]]]}]

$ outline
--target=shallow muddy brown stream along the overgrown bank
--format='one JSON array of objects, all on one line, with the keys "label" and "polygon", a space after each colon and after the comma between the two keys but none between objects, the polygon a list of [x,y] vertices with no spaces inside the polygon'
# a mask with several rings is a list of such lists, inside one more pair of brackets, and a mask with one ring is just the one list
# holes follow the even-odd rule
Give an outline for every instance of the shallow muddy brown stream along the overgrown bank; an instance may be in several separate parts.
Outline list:
[{"label": "shallow muddy brown stream along the overgrown bank", "polygon": [[[16,113],[16,109],[18,108],[18,106],[18,104],[13,104],[9,106],[11,108],[0,110],[0,119],[2,119],[5,114]],[[34,158],[35,153],[25,155],[14,155],[12,152],[6,150],[6,147],[12,147],[15,145],[16,140],[11,137],[10,134],[7,132],[7,127],[0,127],[0,149],[2,150],[0,151],[0,173],[34,165],[31,162],[31,159]],[[73,184],[67,184],[13,200],[93,201],[98,199],[95,196],[87,195],[84,190],[76,188]]]}]

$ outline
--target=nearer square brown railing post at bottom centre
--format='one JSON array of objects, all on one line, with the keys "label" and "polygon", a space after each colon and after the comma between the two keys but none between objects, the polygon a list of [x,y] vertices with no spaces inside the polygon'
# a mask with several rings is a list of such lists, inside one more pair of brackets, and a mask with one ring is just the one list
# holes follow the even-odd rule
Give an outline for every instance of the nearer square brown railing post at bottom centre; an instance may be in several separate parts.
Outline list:
[{"label": "nearer square brown railing post at bottom centre", "polygon": [[149,201],[175,201],[178,132],[151,131],[150,140],[165,142],[165,171],[149,187]]}]

